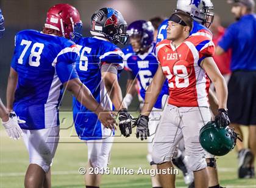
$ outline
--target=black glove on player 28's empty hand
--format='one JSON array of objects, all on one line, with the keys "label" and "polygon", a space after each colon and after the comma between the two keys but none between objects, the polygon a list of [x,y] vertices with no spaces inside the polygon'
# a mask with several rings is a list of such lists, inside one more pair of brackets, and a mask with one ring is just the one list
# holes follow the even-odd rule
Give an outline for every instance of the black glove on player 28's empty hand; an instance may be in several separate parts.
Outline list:
[{"label": "black glove on player 28's empty hand", "polygon": [[134,124],[137,126],[136,137],[141,140],[147,139],[147,136],[149,136],[149,117],[140,115]]}]

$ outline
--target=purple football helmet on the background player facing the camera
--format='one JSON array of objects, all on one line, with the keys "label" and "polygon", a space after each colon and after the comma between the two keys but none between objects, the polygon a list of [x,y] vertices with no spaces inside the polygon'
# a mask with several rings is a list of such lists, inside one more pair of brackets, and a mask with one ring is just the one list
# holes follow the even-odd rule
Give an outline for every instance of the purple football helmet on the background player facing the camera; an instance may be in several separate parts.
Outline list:
[{"label": "purple football helmet on the background player facing the camera", "polygon": [[154,27],[149,21],[138,20],[132,22],[127,33],[130,37],[138,37],[140,39],[140,51],[147,49],[154,41]]}]

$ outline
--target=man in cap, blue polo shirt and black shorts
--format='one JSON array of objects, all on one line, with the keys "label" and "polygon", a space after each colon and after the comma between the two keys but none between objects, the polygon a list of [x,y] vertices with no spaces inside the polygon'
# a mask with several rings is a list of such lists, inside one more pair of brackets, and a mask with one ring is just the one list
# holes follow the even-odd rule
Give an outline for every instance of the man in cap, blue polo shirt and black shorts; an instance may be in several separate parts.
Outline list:
[{"label": "man in cap, blue polo shirt and black shorts", "polygon": [[[227,106],[230,109],[230,127],[243,139],[241,125],[248,129],[248,147],[237,141],[238,178],[254,178],[256,157],[256,14],[254,0],[230,0],[236,22],[231,24],[216,47],[221,55],[232,50]],[[239,88],[239,89],[238,89]],[[243,99],[243,100],[241,100]]]}]

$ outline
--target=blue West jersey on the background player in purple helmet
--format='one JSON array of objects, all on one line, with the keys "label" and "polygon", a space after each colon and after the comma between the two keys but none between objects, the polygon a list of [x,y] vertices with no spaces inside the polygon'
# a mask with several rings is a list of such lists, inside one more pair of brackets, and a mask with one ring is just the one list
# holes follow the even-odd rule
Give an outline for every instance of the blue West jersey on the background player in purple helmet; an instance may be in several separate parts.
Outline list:
[{"label": "blue West jersey on the background player in purple helmet", "polygon": [[[132,73],[133,78],[138,79],[140,84],[140,95],[143,99],[145,99],[146,89],[151,83],[158,69],[158,61],[157,58],[155,58],[154,48],[155,43],[153,43],[148,52],[144,53],[143,55],[133,52],[132,45],[128,45],[123,49],[126,60],[126,70]],[[162,109],[163,95],[169,95],[167,80],[163,84],[162,91],[155,102],[155,108]]]}]

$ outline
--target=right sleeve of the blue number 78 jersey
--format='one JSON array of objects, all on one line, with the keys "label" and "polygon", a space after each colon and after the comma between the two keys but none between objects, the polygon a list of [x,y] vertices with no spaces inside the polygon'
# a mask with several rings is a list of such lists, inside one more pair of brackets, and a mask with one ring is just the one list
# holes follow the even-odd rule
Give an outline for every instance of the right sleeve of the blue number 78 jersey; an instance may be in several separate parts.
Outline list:
[{"label": "right sleeve of the blue number 78 jersey", "polygon": [[[67,44],[66,44],[67,45]],[[52,63],[62,83],[74,78],[79,78],[76,72],[75,62],[79,61],[79,52],[75,44],[68,44],[62,49]]]}]

